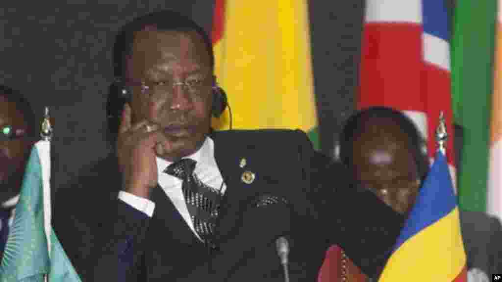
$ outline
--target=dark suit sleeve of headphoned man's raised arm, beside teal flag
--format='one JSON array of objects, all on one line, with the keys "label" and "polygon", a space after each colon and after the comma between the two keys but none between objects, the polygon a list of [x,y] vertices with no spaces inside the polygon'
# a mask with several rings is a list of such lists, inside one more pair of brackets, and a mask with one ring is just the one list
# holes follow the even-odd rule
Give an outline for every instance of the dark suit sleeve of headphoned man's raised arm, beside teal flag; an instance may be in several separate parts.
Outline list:
[{"label": "dark suit sleeve of headphoned man's raised arm, beside teal flag", "polygon": [[124,281],[141,274],[130,272],[141,269],[138,250],[150,220],[117,198],[116,164],[101,162],[58,189],[54,229],[82,281],[117,281],[117,273]]}]

